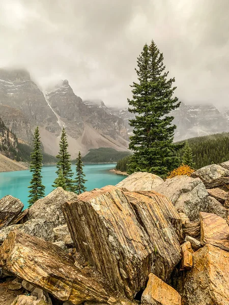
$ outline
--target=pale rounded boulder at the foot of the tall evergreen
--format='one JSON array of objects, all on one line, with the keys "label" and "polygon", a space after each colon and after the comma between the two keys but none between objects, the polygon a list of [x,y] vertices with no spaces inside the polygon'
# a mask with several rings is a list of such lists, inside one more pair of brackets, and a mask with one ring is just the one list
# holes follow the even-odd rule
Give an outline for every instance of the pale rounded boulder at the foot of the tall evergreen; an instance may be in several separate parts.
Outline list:
[{"label": "pale rounded boulder at the foot of the tall evergreen", "polygon": [[125,188],[129,192],[151,191],[164,181],[157,175],[146,172],[135,172],[119,182],[118,188]]}]

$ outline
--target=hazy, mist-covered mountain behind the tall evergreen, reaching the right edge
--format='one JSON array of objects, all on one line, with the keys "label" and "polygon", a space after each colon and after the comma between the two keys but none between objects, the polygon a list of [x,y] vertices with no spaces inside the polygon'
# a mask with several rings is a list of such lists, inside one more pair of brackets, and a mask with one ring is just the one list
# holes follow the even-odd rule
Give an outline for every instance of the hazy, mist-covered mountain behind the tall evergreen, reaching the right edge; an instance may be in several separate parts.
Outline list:
[{"label": "hazy, mist-covered mountain behind the tall evergreen, reaching the right edge", "polygon": [[[110,111],[122,117],[128,134],[132,134],[132,128],[128,120],[134,117],[127,108],[109,108]],[[229,111],[220,112],[214,105],[186,105],[184,103],[172,112],[174,124],[177,126],[175,141],[200,137],[214,133],[229,131]]]}]

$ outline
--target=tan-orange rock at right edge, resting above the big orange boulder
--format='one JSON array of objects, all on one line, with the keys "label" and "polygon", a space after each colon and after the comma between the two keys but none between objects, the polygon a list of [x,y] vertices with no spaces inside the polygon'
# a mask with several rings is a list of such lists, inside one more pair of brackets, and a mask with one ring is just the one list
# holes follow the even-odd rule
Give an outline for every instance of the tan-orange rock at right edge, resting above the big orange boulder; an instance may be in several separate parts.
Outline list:
[{"label": "tan-orange rock at right edge, resting above the big orange boulder", "polygon": [[229,226],[223,218],[210,213],[201,212],[201,244],[229,251]]}]

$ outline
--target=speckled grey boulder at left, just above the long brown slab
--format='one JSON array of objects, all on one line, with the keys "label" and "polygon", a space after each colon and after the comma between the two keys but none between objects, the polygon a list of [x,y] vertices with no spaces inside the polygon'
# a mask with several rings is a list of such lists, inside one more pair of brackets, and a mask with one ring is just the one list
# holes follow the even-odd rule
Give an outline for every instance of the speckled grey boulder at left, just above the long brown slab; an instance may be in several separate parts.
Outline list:
[{"label": "speckled grey boulder at left, just above the long brown slab", "polygon": [[11,225],[0,230],[0,244],[7,238],[12,230],[20,230],[31,236],[42,238],[46,241],[54,241],[52,226],[45,219],[32,219],[24,224]]}]

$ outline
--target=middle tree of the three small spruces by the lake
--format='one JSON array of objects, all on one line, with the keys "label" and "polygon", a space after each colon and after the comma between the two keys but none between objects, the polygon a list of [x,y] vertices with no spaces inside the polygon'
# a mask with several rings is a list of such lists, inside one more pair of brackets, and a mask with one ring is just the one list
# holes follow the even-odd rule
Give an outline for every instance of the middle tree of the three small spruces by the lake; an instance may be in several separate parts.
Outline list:
[{"label": "middle tree of the three small spruces by the lake", "polygon": [[[60,151],[56,158],[59,159],[58,163],[56,164],[56,174],[58,175],[58,177],[55,178],[52,187],[58,188],[64,186],[63,189],[65,191],[74,192],[74,181],[72,179],[73,171],[71,168],[71,155],[68,153],[68,142],[66,131],[64,128],[61,134]],[[63,180],[65,180],[65,184],[63,184]]]}]

